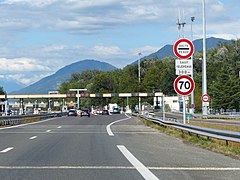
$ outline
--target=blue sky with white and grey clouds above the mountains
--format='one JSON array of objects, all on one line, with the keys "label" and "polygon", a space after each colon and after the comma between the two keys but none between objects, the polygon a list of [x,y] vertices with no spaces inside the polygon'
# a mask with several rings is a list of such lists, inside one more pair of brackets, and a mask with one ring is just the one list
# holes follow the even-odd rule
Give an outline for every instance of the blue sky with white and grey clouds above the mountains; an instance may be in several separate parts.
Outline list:
[{"label": "blue sky with white and grey clouds above the mountains", "polygon": [[[0,78],[30,85],[95,59],[123,68],[179,38],[202,38],[203,0],[0,0]],[[207,37],[240,37],[240,1],[205,0]]]}]

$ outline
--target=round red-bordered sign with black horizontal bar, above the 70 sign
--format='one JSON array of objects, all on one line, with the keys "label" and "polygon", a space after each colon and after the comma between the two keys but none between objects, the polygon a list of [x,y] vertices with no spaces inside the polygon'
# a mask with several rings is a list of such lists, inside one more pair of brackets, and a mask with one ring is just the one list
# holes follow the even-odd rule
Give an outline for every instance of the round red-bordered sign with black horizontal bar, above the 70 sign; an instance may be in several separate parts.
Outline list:
[{"label": "round red-bordered sign with black horizontal bar, above the 70 sign", "polygon": [[174,54],[180,59],[188,59],[194,53],[194,45],[189,39],[179,39],[173,46]]}]

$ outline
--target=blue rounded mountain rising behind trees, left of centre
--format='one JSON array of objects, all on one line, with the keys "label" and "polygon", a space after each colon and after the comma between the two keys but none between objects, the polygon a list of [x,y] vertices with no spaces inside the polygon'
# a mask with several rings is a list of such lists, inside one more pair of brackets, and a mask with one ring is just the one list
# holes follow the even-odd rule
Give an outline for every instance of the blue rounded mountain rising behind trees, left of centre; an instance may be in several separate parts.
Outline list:
[{"label": "blue rounded mountain rising behind trees, left of centre", "polygon": [[108,63],[96,60],[78,61],[63,67],[55,74],[45,77],[28,87],[13,92],[12,94],[47,94],[48,91],[57,90],[59,85],[69,80],[73,73],[81,73],[85,70],[111,71],[115,69],[117,68]]}]

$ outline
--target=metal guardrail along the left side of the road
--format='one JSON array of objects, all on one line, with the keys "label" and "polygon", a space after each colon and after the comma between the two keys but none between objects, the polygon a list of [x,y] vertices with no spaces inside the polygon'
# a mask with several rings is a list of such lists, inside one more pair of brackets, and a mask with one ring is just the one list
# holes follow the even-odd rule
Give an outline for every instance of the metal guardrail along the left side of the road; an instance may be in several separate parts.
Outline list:
[{"label": "metal guardrail along the left side of the road", "polygon": [[25,122],[35,120],[43,120],[53,117],[61,117],[66,113],[51,113],[51,114],[40,114],[40,115],[22,115],[22,116],[0,116],[0,126],[12,126],[23,124]]}]

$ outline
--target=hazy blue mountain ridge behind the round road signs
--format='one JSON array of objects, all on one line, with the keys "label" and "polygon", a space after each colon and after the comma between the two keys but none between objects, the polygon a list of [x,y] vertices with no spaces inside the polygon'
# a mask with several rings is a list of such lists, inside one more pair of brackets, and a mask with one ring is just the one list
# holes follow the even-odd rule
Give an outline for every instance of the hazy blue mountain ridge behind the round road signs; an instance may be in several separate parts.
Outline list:
[{"label": "hazy blue mountain ridge behind the round road signs", "polygon": [[[203,49],[203,40],[197,39],[193,41],[195,52],[202,51]],[[220,38],[210,37],[206,39],[206,49],[216,48],[220,43],[231,43],[231,40],[225,40]],[[163,48],[159,49],[157,52],[152,53],[141,59],[164,59],[168,56],[175,56],[173,53],[173,45],[165,45]],[[135,64],[136,62],[134,62]]]}]

